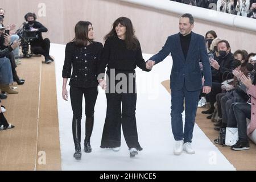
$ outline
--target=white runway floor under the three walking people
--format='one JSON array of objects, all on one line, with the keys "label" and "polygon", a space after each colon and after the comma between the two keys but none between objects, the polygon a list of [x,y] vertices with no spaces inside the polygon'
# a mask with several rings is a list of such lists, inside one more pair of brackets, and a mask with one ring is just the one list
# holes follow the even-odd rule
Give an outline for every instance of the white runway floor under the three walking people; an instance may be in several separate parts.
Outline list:
[{"label": "white runway floor under the three walking people", "polygon": [[[171,96],[160,84],[170,79],[171,57],[156,65],[151,72],[142,72],[137,68],[137,127],[139,142],[143,151],[130,159],[129,150],[122,136],[119,152],[100,148],[102,129],[106,115],[106,97],[100,89],[95,107],[95,123],[91,138],[92,153],[82,152],[82,160],[73,158],[75,147],[72,137],[72,109],[70,100],[61,96],[61,76],[65,46],[51,44],[50,54],[55,57],[57,106],[59,112],[61,166],[63,170],[85,171],[170,171],[170,170],[235,170],[217,147],[210,142],[203,131],[195,125],[192,146],[195,155],[185,152],[180,156],[173,154],[174,138],[171,131]],[[144,54],[147,60],[150,55]],[[69,81],[68,81],[69,82]],[[68,86],[69,92],[69,86]],[[84,106],[83,106],[84,107]],[[84,108],[83,108],[84,109]],[[84,113],[84,111],[83,111]],[[83,146],[85,114],[82,116]],[[83,149],[84,147],[82,147]]]}]

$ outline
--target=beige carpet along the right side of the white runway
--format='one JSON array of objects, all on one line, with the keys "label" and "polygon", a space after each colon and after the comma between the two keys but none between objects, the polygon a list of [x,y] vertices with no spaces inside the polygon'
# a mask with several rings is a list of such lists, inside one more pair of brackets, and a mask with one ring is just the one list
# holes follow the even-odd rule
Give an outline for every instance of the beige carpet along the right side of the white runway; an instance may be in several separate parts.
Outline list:
[{"label": "beige carpet along the right side of the white runway", "polygon": [[[166,80],[162,82],[164,88],[168,90],[170,93],[170,80]],[[201,114],[201,111],[207,110],[207,108],[197,109],[197,117],[196,123],[200,127],[201,130],[207,135],[207,137],[213,142],[214,139],[218,137],[218,131],[214,130],[214,123],[207,119],[208,115]],[[233,151],[230,147],[223,147],[213,142],[213,144],[218,147],[218,150],[222,152],[222,154],[229,160],[230,163],[237,170],[249,171],[256,170],[256,144],[250,141],[250,150],[244,151]]]}]

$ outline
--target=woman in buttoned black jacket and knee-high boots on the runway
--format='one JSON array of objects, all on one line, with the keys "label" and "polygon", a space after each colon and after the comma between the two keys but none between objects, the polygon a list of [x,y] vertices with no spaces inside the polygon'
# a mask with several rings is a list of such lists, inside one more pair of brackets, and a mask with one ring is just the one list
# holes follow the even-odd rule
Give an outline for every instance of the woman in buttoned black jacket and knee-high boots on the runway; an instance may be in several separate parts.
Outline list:
[{"label": "woman in buttoned black jacket and knee-high boots on the runway", "polygon": [[[82,118],[82,95],[85,97],[85,140],[84,151],[91,152],[90,136],[94,123],[94,106],[98,96],[98,64],[102,51],[102,44],[93,41],[92,23],[80,21],[75,27],[75,38],[69,42],[65,49],[65,63],[63,66],[63,99],[67,101],[66,89],[68,78],[71,105],[73,110],[72,131],[75,143],[74,158],[81,159],[81,118]],[[71,75],[71,67],[73,72]]]}]

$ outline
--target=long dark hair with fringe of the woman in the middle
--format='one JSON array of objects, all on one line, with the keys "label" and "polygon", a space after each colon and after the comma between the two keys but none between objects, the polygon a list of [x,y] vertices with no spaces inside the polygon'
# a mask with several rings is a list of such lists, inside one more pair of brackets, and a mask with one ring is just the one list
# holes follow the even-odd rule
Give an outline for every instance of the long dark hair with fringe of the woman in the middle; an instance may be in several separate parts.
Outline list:
[{"label": "long dark hair with fringe of the woman in the middle", "polygon": [[122,26],[126,27],[125,32],[125,43],[126,48],[129,50],[135,50],[139,46],[139,41],[136,38],[135,31],[133,29],[133,23],[131,23],[131,20],[126,17],[120,17],[117,20],[114,21],[112,25],[112,30],[104,37],[104,40],[106,41],[110,37],[117,37],[117,32],[115,31],[115,27],[118,26],[118,24],[122,24]]}]

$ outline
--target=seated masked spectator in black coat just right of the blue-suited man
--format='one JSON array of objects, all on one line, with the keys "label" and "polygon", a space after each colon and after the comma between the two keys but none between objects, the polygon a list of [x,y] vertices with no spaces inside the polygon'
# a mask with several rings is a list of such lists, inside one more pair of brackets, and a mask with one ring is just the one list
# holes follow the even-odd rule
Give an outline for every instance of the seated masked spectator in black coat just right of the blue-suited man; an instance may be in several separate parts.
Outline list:
[{"label": "seated masked spectator in black coat just right of the blue-suited man", "polygon": [[221,93],[221,82],[228,78],[229,73],[233,70],[233,53],[231,53],[229,42],[221,40],[218,42],[217,60],[210,61],[212,66],[212,91],[207,94],[210,101],[210,109],[202,111],[203,114],[212,114],[215,110],[214,102],[216,102],[216,95]]}]

